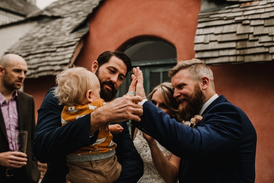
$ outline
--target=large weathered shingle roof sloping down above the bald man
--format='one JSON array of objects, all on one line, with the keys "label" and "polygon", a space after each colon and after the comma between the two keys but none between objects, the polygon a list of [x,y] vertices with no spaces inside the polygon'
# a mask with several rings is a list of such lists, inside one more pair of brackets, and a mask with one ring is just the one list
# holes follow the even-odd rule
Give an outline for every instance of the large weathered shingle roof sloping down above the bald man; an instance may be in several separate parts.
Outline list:
[{"label": "large weathered shingle roof sloping down above the bald man", "polygon": [[6,53],[21,55],[27,61],[28,78],[60,73],[73,64],[78,54],[75,48],[89,31],[89,27],[83,25],[100,1],[59,0],[42,11],[29,14],[29,18],[41,17],[43,21]]}]

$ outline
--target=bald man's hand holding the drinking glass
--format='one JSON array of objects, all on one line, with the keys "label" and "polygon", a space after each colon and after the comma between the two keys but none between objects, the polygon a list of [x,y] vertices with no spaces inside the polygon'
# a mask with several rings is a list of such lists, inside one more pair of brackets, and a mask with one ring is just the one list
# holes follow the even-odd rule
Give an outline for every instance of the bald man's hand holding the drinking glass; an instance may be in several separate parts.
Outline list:
[{"label": "bald man's hand holding the drinking glass", "polygon": [[21,168],[27,164],[27,154],[23,152],[1,152],[0,153],[0,165],[8,166],[12,168]]}]

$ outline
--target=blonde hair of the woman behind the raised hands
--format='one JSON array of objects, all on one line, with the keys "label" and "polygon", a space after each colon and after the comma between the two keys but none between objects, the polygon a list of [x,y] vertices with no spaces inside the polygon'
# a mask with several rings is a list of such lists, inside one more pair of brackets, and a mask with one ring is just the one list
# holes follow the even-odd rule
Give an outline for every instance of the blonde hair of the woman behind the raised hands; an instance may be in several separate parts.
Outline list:
[{"label": "blonde hair of the woman behind the raised hands", "polygon": [[159,84],[158,86],[154,87],[152,92],[148,95],[148,100],[151,102],[152,96],[155,92],[158,92],[160,99],[163,101],[163,103],[172,111],[175,112],[175,119],[178,122],[182,122],[182,119],[180,118],[180,115],[178,114],[178,106],[176,99],[173,97],[174,94],[174,88],[172,87],[171,83],[164,82]]}]

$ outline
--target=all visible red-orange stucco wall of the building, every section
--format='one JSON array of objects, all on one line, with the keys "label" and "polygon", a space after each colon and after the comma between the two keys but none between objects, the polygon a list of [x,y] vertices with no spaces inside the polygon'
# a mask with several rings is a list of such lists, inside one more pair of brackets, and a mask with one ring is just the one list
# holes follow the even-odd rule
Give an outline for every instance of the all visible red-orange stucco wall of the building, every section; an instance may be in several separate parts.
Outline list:
[{"label": "all visible red-orange stucco wall of the building, every section", "polygon": [[[163,39],[176,47],[178,59],[192,59],[199,12],[200,0],[102,1],[90,17],[90,32],[75,64],[90,69],[103,51],[121,50],[142,38]],[[211,67],[216,92],[239,106],[257,131],[256,183],[274,180],[273,66],[247,63]],[[26,79],[25,92],[35,97],[36,110],[54,82],[53,76]]]}]

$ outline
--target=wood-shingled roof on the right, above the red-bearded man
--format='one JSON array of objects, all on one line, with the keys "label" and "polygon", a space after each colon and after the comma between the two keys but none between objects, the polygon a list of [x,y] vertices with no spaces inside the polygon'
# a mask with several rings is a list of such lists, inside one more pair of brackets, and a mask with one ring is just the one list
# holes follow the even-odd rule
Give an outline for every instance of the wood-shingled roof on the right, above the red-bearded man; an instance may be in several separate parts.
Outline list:
[{"label": "wood-shingled roof on the right, above the red-bearded man", "polygon": [[195,57],[207,64],[273,61],[273,35],[274,0],[200,12]]}]

